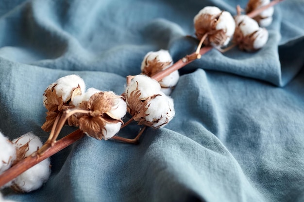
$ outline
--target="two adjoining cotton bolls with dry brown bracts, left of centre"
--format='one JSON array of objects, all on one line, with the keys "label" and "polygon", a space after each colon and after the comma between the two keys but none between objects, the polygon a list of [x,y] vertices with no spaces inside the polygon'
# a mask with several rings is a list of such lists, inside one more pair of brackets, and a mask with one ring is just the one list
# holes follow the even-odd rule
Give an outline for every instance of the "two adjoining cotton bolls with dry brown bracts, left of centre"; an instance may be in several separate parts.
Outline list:
[{"label": "two adjoining cotton bolls with dry brown bracts, left of centre", "polygon": [[108,140],[118,133],[121,118],[127,106],[123,98],[113,92],[102,92],[95,88],[85,91],[84,80],[78,75],[57,79],[43,94],[47,112],[42,129],[50,131],[58,114],[66,109],[82,109],[88,113],[76,113],[68,118],[68,124],[79,126],[88,136]]}]

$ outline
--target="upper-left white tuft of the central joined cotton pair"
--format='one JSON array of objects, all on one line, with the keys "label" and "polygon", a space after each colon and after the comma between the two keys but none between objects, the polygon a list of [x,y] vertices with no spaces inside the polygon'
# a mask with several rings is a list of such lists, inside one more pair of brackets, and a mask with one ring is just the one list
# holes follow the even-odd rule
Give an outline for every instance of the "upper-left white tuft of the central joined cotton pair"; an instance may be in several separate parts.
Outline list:
[{"label": "upper-left white tuft of the central joined cotton pair", "polygon": [[130,96],[132,92],[136,89],[140,91],[139,99],[145,99],[150,97],[154,94],[159,93],[160,91],[160,84],[157,80],[152,79],[145,75],[136,75],[126,87],[125,93],[127,97]]}]

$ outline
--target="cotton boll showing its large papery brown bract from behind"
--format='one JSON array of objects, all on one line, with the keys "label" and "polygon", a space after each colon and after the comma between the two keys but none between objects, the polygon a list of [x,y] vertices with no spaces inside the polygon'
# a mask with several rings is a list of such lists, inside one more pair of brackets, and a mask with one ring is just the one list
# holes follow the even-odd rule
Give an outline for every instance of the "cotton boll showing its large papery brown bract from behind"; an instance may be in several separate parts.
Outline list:
[{"label": "cotton boll showing its large papery brown bract from behind", "polygon": [[[94,89],[90,91],[95,92]],[[84,133],[97,140],[108,140],[118,133],[127,105],[121,96],[110,91],[92,94],[78,109],[88,113],[71,116],[69,124],[79,126]]]}]

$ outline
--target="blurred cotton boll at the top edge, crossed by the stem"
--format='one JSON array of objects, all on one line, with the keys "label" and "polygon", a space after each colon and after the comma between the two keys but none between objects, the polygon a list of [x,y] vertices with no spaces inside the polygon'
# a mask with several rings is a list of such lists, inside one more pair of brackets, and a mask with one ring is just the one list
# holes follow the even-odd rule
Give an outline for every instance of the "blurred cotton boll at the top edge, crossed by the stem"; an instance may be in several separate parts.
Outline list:
[{"label": "blurred cotton boll at the top edge, crossed by the stem", "polygon": [[[248,14],[269,3],[270,0],[249,0],[246,7],[246,13]],[[262,11],[258,16],[253,17],[253,19],[256,20],[261,27],[267,27],[272,22],[273,12],[274,8],[269,7],[266,10]]]}]

